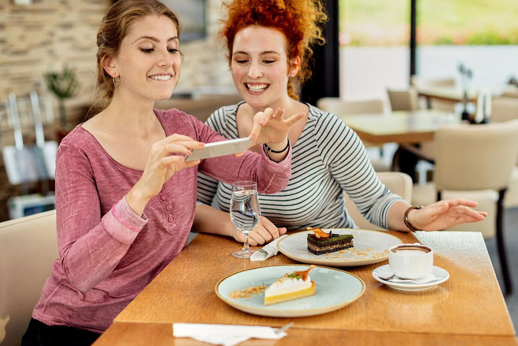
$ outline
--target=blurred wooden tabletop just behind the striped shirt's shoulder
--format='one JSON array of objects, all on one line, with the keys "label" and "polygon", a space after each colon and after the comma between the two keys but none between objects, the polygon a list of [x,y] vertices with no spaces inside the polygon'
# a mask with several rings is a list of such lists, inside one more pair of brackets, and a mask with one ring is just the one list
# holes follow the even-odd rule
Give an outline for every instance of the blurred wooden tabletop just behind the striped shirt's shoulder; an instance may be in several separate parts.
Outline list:
[{"label": "blurred wooden tabletop just behind the striped shirt's shoulder", "polygon": [[390,113],[338,116],[364,141],[399,144],[431,141],[443,124],[461,120],[451,112],[435,109],[399,110]]}]

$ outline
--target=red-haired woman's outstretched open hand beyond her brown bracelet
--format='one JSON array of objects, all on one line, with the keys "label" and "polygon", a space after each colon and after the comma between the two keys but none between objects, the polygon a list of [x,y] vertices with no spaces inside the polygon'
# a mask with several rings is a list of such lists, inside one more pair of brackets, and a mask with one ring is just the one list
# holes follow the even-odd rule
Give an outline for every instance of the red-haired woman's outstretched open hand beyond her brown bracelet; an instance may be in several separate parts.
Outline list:
[{"label": "red-haired woman's outstretched open hand beyond her brown bracelet", "polygon": [[435,202],[423,209],[413,210],[408,219],[412,226],[424,231],[436,231],[458,224],[472,223],[483,220],[486,212],[472,210],[477,202],[464,198],[455,198]]}]

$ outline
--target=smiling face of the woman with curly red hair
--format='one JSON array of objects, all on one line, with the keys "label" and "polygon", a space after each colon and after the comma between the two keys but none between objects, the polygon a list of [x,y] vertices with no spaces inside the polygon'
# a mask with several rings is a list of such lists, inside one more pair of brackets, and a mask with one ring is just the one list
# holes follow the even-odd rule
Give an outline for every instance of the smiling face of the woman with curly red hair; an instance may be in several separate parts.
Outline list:
[{"label": "smiling face of the woman with curly red hair", "polygon": [[250,25],[238,31],[231,71],[237,91],[254,109],[285,106],[289,77],[298,71],[298,59],[289,64],[286,37],[272,27]]}]

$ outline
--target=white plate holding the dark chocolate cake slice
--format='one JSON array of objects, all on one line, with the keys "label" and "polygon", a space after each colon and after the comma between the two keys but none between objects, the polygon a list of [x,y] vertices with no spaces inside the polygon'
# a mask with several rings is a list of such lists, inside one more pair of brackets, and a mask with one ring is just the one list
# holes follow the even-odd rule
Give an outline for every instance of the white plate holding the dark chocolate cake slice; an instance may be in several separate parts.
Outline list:
[{"label": "white plate holding the dark chocolate cake slice", "polygon": [[287,257],[299,262],[331,267],[355,267],[378,263],[389,259],[389,248],[403,242],[385,232],[351,228],[322,228],[323,231],[337,234],[352,234],[353,247],[346,250],[314,255],[308,251],[308,233],[301,231],[277,243],[277,248]]}]

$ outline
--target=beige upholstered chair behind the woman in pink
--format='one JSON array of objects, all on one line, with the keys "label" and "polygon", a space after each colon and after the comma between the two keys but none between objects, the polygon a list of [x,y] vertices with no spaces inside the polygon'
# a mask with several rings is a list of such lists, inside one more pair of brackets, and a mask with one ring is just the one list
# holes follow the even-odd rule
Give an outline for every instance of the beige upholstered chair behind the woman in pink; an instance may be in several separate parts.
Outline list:
[{"label": "beige upholstered chair behind the woman in pink", "polygon": [[20,344],[57,257],[55,210],[0,223],[0,343]]}]

